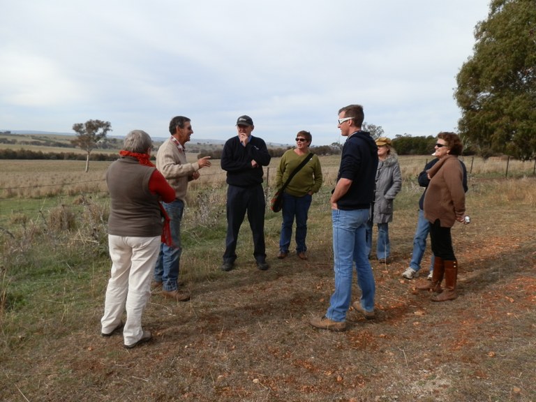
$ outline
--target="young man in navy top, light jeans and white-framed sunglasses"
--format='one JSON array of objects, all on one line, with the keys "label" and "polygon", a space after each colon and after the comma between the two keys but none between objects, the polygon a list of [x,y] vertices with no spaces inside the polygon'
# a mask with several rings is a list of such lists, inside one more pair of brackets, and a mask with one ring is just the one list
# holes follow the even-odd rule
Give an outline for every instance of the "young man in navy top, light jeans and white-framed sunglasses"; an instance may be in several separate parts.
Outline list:
[{"label": "young man in navy top, light jeans and white-framed sunglasses", "polygon": [[332,204],[335,292],[325,315],[311,319],[313,327],[332,331],[346,328],[354,263],[362,296],[353,306],[365,318],[374,318],[375,282],[368,262],[365,232],[374,200],[378,147],[371,135],[362,131],[363,120],[361,105],[348,105],[338,111],[338,128],[348,139],[343,146],[337,184],[329,200]]}]

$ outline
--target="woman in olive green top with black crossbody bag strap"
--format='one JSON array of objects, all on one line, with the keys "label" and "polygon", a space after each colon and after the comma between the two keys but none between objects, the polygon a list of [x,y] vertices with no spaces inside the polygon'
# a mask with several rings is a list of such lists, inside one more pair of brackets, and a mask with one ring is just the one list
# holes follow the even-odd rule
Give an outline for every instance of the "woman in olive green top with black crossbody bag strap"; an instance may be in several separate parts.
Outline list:
[{"label": "woman in olive green top with black crossbody bag strap", "polygon": [[[309,146],[313,137],[308,131],[299,131],[296,135],[296,148],[289,149],[281,157],[276,174],[276,186],[281,188],[283,183],[298,165],[309,154]],[[307,214],[311,206],[312,195],[320,190],[322,185],[322,169],[318,156],[313,158],[301,168],[283,191],[283,223],[281,224],[281,237],[279,239],[280,260],[288,255],[288,247],[292,238],[292,224],[296,218],[296,253],[301,260],[306,260],[307,246]]]}]

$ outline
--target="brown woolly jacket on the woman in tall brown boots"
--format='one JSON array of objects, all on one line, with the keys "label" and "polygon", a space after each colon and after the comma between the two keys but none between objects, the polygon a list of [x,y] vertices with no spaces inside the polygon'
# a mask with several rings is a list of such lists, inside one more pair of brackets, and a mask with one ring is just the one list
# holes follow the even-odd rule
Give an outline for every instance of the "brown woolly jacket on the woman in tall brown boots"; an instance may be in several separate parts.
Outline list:
[{"label": "brown woolly jacket on the woman in tall brown boots", "polygon": [[448,155],[426,172],[431,180],[424,196],[424,217],[432,223],[439,219],[443,228],[452,228],[456,218],[466,212],[461,163]]}]

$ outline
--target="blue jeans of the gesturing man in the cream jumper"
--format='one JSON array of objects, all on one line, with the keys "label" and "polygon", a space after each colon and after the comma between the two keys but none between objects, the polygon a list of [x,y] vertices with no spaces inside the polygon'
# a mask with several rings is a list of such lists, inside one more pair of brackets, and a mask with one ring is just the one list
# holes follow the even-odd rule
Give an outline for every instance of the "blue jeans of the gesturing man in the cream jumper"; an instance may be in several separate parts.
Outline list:
[{"label": "blue jeans of the gesturing man in the cream jumper", "polygon": [[165,211],[170,217],[170,230],[173,246],[164,243],[160,245],[160,253],[154,267],[154,281],[162,282],[163,290],[172,292],[177,290],[179,280],[179,266],[181,264],[181,219],[184,212],[184,202],[174,200],[163,202]]}]

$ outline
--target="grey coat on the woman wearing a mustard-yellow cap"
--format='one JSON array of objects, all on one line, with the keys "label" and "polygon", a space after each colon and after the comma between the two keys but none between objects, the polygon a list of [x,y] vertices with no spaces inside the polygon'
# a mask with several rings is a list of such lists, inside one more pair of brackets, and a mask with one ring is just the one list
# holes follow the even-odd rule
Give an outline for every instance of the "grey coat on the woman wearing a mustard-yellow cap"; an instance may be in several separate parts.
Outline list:
[{"label": "grey coat on the woman wearing a mustard-yellow cap", "polygon": [[399,156],[391,150],[385,161],[378,162],[374,193],[374,223],[393,220],[393,200],[402,188]]}]

